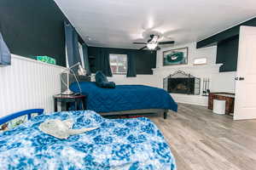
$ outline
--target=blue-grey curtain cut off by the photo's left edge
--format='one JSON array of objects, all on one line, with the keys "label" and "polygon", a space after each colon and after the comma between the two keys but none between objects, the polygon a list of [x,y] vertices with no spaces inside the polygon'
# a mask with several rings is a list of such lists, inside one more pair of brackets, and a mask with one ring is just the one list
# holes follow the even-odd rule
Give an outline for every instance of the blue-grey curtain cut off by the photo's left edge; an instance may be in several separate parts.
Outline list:
[{"label": "blue-grey curtain cut off by the photo's left edge", "polygon": [[10,65],[11,54],[0,32],[0,65]]}]

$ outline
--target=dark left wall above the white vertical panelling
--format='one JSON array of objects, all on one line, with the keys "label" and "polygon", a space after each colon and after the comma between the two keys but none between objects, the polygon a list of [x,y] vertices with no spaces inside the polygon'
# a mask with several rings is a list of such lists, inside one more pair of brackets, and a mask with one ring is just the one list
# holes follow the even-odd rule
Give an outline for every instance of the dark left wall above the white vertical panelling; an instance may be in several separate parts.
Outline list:
[{"label": "dark left wall above the white vertical panelling", "polygon": [[54,0],[0,1],[0,31],[12,54],[48,55],[66,66],[65,20]]}]

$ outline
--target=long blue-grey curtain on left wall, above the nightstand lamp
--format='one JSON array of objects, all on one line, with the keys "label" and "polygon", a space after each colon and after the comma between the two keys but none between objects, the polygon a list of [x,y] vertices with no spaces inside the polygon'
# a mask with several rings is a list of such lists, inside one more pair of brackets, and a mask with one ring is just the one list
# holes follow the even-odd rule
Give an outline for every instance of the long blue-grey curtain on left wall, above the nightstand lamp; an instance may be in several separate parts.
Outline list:
[{"label": "long blue-grey curtain on left wall, above the nightstand lamp", "polygon": [[67,50],[67,65],[72,65],[81,62],[79,54],[79,37],[77,31],[70,24],[65,23],[65,40]]}]

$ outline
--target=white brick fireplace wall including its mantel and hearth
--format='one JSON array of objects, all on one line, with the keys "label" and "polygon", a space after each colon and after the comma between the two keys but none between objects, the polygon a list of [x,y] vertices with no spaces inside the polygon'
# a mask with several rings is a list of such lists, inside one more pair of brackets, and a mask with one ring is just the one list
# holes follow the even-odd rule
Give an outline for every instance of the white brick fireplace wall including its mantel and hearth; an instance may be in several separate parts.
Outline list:
[{"label": "white brick fireplace wall including its mantel and hearth", "polygon": [[[188,65],[163,66],[163,51],[175,48],[189,48]],[[230,92],[235,93],[236,72],[219,72],[221,64],[216,63],[217,46],[208,48],[196,48],[196,42],[180,45],[172,48],[162,48],[157,53],[156,69],[154,69],[154,78],[159,88],[163,88],[163,78],[182,70],[195,77],[202,79],[210,78],[210,90],[212,92]],[[193,65],[194,59],[207,58],[207,65]],[[202,89],[201,89],[202,92]],[[189,103],[194,105],[207,105],[207,97],[201,95],[172,94],[177,102]]]}]

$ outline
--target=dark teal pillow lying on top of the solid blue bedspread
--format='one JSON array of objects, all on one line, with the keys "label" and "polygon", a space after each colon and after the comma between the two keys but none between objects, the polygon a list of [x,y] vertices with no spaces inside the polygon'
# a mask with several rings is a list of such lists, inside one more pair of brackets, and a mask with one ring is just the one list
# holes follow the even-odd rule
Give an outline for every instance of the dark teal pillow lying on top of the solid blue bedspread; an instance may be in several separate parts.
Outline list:
[{"label": "dark teal pillow lying on top of the solid blue bedspread", "polygon": [[100,88],[115,88],[114,82],[108,82],[108,78],[102,71],[96,71],[95,75],[96,85]]}]

